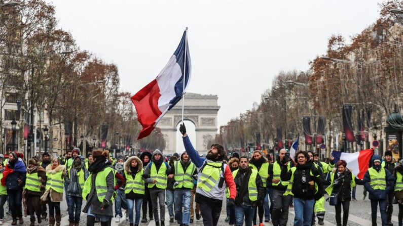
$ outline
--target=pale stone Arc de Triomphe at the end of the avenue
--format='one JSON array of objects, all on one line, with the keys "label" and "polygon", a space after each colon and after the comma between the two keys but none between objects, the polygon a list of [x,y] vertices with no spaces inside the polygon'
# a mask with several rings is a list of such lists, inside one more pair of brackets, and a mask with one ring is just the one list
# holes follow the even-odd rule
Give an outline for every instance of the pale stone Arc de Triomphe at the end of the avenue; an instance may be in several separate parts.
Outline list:
[{"label": "pale stone Arc de Triomphe at the end of the avenue", "polygon": [[[185,95],[184,120],[193,122],[196,126],[196,144],[193,144],[199,154],[207,153],[208,139],[214,139],[217,133],[217,95],[201,95],[187,93]],[[168,111],[160,120],[157,127],[161,129],[165,138],[164,154],[173,154],[176,149],[176,127],[182,120],[182,100]],[[208,147],[209,148],[209,147]]]}]

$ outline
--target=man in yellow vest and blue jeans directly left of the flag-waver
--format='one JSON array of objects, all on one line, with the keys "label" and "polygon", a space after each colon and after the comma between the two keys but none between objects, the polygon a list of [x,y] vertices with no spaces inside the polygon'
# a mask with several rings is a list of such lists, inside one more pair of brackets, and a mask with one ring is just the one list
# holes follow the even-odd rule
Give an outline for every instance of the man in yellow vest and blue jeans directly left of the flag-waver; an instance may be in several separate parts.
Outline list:
[{"label": "man in yellow vest and blue jeans directly left of the flag-waver", "polygon": [[[175,179],[173,184],[173,200],[175,204],[175,219],[179,224],[187,226],[190,223],[190,201],[193,188],[193,174],[196,166],[190,161],[188,153],[184,150],[179,153],[179,161],[175,161],[169,170],[169,176]],[[174,174],[173,174],[174,173]],[[183,207],[183,212],[182,212]]]}]

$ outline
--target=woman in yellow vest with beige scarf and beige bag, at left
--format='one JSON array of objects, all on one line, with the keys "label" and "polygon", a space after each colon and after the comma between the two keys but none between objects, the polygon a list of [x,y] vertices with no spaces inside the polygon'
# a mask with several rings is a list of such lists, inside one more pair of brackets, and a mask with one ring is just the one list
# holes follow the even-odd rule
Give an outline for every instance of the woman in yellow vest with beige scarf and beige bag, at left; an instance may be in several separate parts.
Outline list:
[{"label": "woman in yellow vest with beige scarf and beige bag, at left", "polygon": [[60,160],[57,157],[53,157],[52,164],[46,167],[46,191],[41,197],[43,202],[48,202],[50,226],[53,226],[55,221],[56,226],[60,226],[60,202],[63,201],[63,179],[65,175],[65,165],[60,165]]}]

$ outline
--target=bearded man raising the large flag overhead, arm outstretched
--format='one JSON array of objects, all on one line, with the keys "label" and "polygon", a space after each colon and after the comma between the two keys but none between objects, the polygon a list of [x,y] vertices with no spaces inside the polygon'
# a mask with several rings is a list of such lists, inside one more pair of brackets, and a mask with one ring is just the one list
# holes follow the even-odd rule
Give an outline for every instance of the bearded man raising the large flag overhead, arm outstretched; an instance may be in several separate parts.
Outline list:
[{"label": "bearded man raising the large flag overhead, arm outstretched", "polygon": [[226,186],[230,190],[230,206],[234,205],[236,197],[236,186],[231,169],[223,163],[224,148],[222,145],[213,144],[206,158],[200,157],[186,134],[185,124],[180,125],[179,131],[183,135],[185,150],[198,170],[195,201],[200,204],[203,224],[216,226],[221,213]]}]

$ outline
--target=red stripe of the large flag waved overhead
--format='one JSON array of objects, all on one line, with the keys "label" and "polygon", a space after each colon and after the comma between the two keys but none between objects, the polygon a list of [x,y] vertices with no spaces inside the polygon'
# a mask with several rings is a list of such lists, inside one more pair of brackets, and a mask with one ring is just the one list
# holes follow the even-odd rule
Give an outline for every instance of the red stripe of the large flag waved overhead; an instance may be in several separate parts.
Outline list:
[{"label": "red stripe of the large flag waved overhead", "polygon": [[137,111],[137,120],[143,127],[138,134],[137,140],[147,137],[153,131],[155,121],[162,114],[158,108],[158,99],[160,97],[160,87],[157,80],[154,79],[131,98]]}]

